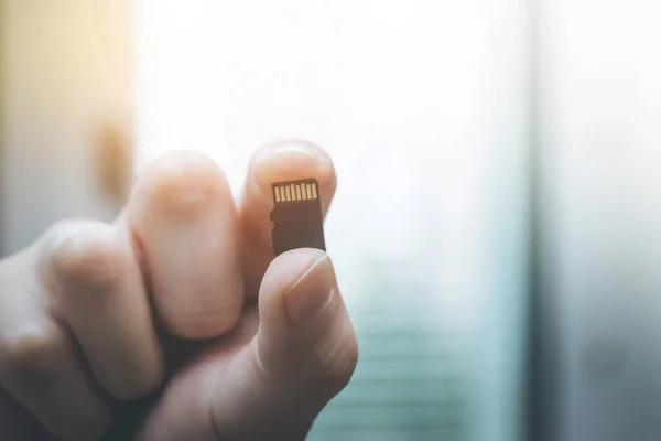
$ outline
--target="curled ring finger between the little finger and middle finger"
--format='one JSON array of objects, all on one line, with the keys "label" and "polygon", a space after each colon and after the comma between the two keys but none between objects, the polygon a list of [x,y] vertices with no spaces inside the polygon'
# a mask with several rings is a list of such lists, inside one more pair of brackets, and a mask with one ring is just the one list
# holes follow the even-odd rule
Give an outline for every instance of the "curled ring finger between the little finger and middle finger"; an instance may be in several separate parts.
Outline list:
[{"label": "curled ring finger between the little finger and middle finger", "polygon": [[52,278],[94,376],[112,397],[132,399],[161,384],[163,359],[124,225],[78,225],[53,250]]}]

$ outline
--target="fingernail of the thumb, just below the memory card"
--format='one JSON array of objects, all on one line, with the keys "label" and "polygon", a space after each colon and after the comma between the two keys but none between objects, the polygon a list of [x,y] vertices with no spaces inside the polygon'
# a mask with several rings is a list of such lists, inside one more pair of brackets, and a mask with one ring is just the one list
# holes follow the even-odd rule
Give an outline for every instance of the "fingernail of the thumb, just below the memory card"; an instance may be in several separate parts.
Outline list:
[{"label": "fingernail of the thumb, just below the memory card", "polygon": [[335,295],[335,271],[328,255],[316,260],[284,293],[286,313],[295,326],[307,326]]}]

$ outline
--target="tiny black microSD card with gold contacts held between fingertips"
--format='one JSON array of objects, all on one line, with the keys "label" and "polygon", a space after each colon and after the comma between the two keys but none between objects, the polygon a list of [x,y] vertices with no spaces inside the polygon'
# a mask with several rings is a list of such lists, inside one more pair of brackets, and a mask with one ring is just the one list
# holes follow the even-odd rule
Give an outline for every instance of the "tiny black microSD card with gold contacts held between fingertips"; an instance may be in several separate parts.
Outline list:
[{"label": "tiny black microSD card with gold contacts held between fingertips", "polygon": [[326,250],[319,183],[315,179],[273,184],[271,220],[277,256],[295,248]]}]

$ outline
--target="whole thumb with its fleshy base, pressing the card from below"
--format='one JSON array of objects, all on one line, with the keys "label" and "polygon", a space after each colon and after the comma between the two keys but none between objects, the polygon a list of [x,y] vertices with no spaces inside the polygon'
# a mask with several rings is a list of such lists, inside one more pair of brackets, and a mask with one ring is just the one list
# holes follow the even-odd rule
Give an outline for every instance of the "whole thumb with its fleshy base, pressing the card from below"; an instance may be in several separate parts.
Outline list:
[{"label": "whole thumb with its fleshy base, pressing the card from below", "polygon": [[305,438],[358,357],[330,259],[314,249],[279,256],[264,276],[259,314],[247,344],[239,329],[169,384],[138,440]]}]

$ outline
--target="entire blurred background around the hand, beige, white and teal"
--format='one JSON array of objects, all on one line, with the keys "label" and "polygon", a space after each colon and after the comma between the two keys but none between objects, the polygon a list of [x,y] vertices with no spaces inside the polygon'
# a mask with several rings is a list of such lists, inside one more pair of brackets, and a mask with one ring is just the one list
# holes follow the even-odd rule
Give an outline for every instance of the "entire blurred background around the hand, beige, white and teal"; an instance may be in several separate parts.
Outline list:
[{"label": "entire blurred background around the hand, beige, white and teal", "polygon": [[361,345],[311,440],[661,437],[661,4],[0,0],[0,251],[151,159],[335,160]]}]

